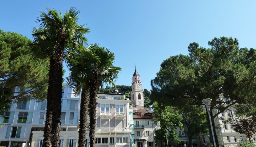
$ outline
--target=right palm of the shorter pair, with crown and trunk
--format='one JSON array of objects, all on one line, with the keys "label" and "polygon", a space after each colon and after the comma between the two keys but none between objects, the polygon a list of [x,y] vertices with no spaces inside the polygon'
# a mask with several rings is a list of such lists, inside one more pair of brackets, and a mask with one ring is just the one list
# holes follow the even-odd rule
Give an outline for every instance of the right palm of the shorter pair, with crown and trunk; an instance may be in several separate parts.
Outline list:
[{"label": "right palm of the shorter pair, with crown and trunk", "polygon": [[92,44],[88,50],[97,56],[97,60],[91,62],[91,79],[88,81],[89,85],[89,108],[90,108],[90,147],[94,147],[95,142],[95,126],[96,126],[96,113],[97,113],[97,92],[103,83],[114,85],[114,81],[118,77],[120,67],[114,67],[115,54],[110,52],[105,47],[99,47],[98,44]]}]

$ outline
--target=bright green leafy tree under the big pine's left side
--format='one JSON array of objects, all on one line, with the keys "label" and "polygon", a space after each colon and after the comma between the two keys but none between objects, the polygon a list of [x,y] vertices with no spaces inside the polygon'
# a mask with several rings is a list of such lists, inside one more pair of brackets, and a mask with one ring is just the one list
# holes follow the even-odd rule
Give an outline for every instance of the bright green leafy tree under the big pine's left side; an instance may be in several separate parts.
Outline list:
[{"label": "bright green leafy tree under the big pine's left side", "polygon": [[155,130],[156,140],[164,141],[166,138],[165,133],[169,132],[168,143],[173,144],[174,141],[179,142],[180,140],[176,132],[176,127],[183,128],[180,112],[175,111],[170,106],[165,106],[164,104],[159,104],[157,102],[153,103],[153,108],[153,115],[156,118],[156,121],[160,122],[160,129]]}]

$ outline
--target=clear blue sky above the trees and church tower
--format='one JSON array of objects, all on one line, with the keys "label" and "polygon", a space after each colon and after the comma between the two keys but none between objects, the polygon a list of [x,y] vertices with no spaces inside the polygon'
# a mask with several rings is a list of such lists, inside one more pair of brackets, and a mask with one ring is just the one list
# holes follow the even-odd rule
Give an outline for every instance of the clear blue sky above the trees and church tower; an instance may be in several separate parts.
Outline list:
[{"label": "clear blue sky above the trees and church tower", "polygon": [[256,1],[8,0],[0,5],[0,29],[28,38],[39,25],[35,20],[44,6],[62,14],[77,7],[79,24],[91,30],[86,35],[89,44],[98,43],[115,53],[115,66],[122,68],[115,83],[131,85],[136,64],[143,88],[148,90],[163,60],[188,54],[189,43],[208,47],[215,36],[233,36],[240,47],[256,48]]}]

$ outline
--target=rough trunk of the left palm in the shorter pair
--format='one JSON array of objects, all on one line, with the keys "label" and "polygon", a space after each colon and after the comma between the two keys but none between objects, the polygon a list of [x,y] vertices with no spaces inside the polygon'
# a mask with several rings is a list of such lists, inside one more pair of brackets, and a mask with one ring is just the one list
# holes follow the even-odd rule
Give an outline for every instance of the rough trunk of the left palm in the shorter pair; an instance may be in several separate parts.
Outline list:
[{"label": "rough trunk of the left palm in the shorter pair", "polygon": [[80,119],[79,119],[79,134],[78,134],[78,147],[86,147],[86,126],[88,116],[88,91],[83,90],[81,93],[80,104]]}]

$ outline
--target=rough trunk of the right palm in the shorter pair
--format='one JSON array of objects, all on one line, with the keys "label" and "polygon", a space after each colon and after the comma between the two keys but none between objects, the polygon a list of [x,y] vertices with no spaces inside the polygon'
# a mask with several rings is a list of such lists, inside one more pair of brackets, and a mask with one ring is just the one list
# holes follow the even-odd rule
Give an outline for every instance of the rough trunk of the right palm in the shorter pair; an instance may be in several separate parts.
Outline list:
[{"label": "rough trunk of the right palm in the shorter pair", "polygon": [[[97,73],[97,72],[95,72]],[[95,143],[95,127],[96,127],[96,114],[97,114],[97,92],[99,89],[99,83],[98,83],[98,75],[91,80],[90,82],[90,147],[94,147]]]}]

